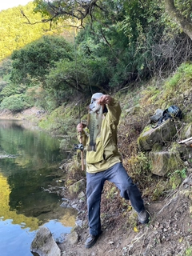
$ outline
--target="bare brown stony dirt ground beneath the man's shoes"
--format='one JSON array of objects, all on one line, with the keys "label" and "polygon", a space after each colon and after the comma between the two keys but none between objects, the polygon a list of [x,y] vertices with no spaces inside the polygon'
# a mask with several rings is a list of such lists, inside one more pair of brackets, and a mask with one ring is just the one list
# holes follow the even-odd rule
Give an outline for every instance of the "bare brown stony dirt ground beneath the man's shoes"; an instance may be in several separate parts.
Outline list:
[{"label": "bare brown stony dirt ground beneath the man's shoes", "polygon": [[[84,246],[89,234],[86,223],[83,228],[76,229],[78,243],[71,244],[69,234],[66,241],[59,245],[62,255],[192,255],[191,186],[192,170],[178,190],[170,192],[161,202],[150,203],[144,198],[146,209],[150,212],[150,222],[146,225],[130,225],[129,214],[122,218],[119,210],[112,218],[102,222],[102,235],[90,249]],[[86,214],[78,218],[85,221]]]}]

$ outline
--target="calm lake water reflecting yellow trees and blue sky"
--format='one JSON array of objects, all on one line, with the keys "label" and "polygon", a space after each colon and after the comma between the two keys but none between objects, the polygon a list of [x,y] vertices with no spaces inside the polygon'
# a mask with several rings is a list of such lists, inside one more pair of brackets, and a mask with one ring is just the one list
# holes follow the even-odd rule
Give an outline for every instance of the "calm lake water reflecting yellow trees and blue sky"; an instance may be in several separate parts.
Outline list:
[{"label": "calm lake water reflecting yellow trees and blue sky", "polygon": [[30,244],[38,227],[46,226],[62,241],[74,226],[74,209],[49,193],[63,186],[58,168],[66,155],[59,142],[27,122],[0,120],[0,255],[32,256]]}]

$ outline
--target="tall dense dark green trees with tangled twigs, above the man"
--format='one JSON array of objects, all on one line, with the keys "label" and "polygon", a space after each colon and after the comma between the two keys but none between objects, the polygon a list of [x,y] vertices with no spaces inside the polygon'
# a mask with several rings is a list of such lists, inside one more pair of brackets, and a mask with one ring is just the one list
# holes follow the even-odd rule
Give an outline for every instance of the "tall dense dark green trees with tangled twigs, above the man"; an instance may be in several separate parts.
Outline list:
[{"label": "tall dense dark green trees with tangled twigs, above the man", "polygon": [[[182,0],[177,1],[178,10],[186,15],[186,8],[181,9],[180,1]],[[189,1],[184,1],[185,7],[187,2],[189,5]],[[171,22],[167,22],[163,1],[49,2],[36,0],[35,3],[36,11],[44,15],[46,22],[54,22],[58,18],[59,20],[77,18],[81,21],[80,25],[85,31],[80,31],[81,36],[78,33],[77,41],[78,46],[82,45],[81,39],[79,40],[82,38],[86,46],[83,50],[86,50],[87,63],[90,63],[90,81],[93,84],[94,82],[98,84],[99,81],[100,86],[104,88],[107,88],[106,83],[125,86],[127,82],[150,77],[157,72],[160,75],[166,74],[169,66],[172,72],[183,60],[190,58],[185,49],[180,46],[182,43],[189,45],[187,38],[178,30],[173,30]],[[189,14],[190,10],[187,18],[190,17]],[[94,50],[91,49],[93,45],[91,41],[96,46]],[[186,48],[189,49],[189,47],[190,45]],[[106,61],[103,62],[103,70],[105,71],[93,72],[95,70],[92,70],[94,67],[92,64],[99,66],[97,65],[99,63],[96,63],[97,60],[99,62],[104,57]],[[91,79],[95,78],[91,75],[95,73],[98,73],[99,78],[106,77],[106,80]]]}]

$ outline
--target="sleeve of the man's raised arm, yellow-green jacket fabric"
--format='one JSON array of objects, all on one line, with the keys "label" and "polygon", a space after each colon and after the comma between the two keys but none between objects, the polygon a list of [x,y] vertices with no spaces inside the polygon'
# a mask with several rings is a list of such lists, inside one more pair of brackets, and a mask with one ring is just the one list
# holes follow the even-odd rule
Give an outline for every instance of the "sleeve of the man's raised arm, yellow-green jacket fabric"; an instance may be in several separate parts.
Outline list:
[{"label": "sleeve of the man's raised arm, yellow-green jacket fabric", "polygon": [[118,126],[118,122],[122,113],[119,102],[112,98],[110,105],[106,105],[106,108],[108,110],[111,122],[113,122],[115,126]]}]

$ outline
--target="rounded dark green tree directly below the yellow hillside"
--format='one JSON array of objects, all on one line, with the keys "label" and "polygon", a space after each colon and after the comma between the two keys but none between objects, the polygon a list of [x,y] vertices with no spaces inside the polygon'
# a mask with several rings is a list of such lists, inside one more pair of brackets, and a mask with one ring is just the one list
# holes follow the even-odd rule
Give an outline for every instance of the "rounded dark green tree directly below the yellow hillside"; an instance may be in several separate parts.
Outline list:
[{"label": "rounded dark green tree directly below the yellow hillside", "polygon": [[62,36],[43,36],[21,50],[15,50],[10,80],[14,83],[45,84],[45,76],[60,59],[73,59],[73,48]]}]

